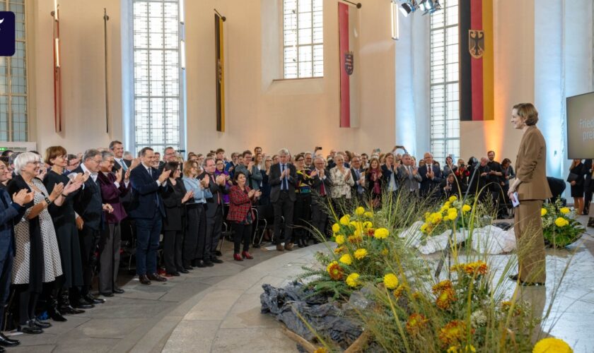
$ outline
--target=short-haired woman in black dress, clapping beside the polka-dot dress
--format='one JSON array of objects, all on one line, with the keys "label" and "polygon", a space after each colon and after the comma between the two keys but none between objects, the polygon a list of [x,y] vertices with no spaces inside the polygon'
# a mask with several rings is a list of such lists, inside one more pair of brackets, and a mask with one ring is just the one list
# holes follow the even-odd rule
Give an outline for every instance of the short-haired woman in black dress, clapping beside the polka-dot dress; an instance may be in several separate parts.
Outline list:
[{"label": "short-haired woman in black dress, clapping beside the polka-dot dress", "polygon": [[[45,162],[52,166],[52,169],[45,174],[43,179],[43,184],[49,193],[54,191],[56,185],[60,183],[66,185],[71,180],[70,177],[64,174],[67,164],[66,156],[66,149],[62,146],[52,146],[45,150]],[[75,182],[83,184],[88,179],[88,174],[72,173],[71,177]],[[49,298],[47,313],[54,321],[66,321],[65,318],[61,318],[61,314],[64,313],[76,314],[84,312],[83,310],[74,309],[69,299],[69,290],[72,287],[78,288],[83,285],[81,245],[78,241],[76,214],[74,213],[74,198],[77,196],[78,190],[69,193],[62,206],[54,203],[47,208],[54,222],[62,260],[62,272],[64,273],[62,281],[57,281],[56,291],[46,295]],[[59,306],[58,309],[56,305]]]}]

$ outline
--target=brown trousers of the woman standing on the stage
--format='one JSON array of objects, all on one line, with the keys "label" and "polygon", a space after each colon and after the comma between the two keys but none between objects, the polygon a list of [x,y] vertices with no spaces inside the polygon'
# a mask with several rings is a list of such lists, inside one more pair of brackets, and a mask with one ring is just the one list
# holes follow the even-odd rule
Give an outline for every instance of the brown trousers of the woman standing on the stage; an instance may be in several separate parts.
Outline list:
[{"label": "brown trousers of the woman standing on the stage", "polygon": [[542,282],[547,277],[540,209],[542,200],[524,200],[514,216],[519,277],[523,282]]}]

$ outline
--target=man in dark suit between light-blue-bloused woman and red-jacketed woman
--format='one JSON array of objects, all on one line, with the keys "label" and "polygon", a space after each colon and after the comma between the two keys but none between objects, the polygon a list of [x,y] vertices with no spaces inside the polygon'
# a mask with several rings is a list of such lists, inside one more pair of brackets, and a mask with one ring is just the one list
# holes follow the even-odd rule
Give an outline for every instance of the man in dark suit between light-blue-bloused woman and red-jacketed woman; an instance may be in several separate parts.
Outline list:
[{"label": "man in dark suit between light-blue-bloused woman and red-jacketed woman", "polygon": [[[214,176],[215,161],[213,157],[206,157],[204,160],[204,173],[198,177],[202,180],[209,177],[209,191],[211,198],[206,198],[206,245],[204,246],[204,261],[212,263],[223,263],[216,257],[216,246],[219,244],[223,232],[223,194],[227,193],[225,189],[225,175]],[[209,257],[210,256],[210,257]]]}]

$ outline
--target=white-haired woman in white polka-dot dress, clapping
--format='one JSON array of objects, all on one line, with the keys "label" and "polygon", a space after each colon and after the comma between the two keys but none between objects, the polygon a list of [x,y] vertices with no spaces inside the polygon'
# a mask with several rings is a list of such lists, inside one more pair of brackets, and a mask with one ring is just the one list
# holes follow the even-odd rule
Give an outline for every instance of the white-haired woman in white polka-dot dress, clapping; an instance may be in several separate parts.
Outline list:
[{"label": "white-haired woman in white polka-dot dress, clapping", "polygon": [[14,161],[17,176],[8,184],[7,191],[13,195],[21,189],[33,191],[33,201],[28,204],[23,221],[15,226],[15,258],[12,282],[19,296],[19,330],[23,333],[42,333],[52,324],[39,321],[35,316],[37,299],[43,285],[53,287],[53,281],[62,275],[56,231],[47,208],[61,206],[70,193],[81,187],[80,183],[59,183],[51,193],[47,192],[40,179],[40,156],[23,152]]}]

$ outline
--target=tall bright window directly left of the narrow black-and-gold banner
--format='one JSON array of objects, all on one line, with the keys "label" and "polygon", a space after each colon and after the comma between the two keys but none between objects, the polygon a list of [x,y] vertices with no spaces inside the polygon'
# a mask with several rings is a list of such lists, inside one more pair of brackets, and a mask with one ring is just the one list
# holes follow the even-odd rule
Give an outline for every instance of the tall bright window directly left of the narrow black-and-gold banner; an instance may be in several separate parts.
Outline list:
[{"label": "tall bright window directly left of the narrow black-and-gold banner", "polygon": [[185,145],[180,0],[134,0],[134,150]]}]

